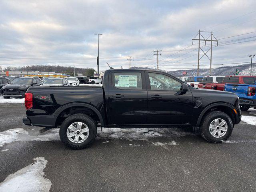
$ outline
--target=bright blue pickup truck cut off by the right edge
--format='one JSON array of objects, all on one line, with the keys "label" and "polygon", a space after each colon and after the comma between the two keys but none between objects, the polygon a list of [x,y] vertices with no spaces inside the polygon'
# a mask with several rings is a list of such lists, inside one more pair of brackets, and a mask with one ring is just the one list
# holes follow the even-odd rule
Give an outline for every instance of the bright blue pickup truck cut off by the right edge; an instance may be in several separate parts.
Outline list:
[{"label": "bright blue pickup truck cut off by the right edge", "polygon": [[247,111],[256,107],[256,84],[225,84],[224,91],[236,93],[239,97],[240,109]]}]

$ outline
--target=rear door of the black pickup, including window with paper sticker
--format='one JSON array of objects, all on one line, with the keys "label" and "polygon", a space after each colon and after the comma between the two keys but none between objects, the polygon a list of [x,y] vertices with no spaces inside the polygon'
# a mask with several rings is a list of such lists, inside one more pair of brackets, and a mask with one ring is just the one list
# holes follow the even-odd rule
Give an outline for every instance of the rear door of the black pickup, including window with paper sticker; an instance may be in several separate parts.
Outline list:
[{"label": "rear door of the black pickup, including window with paper sticker", "polygon": [[145,124],[148,101],[145,72],[110,72],[107,99],[108,124]]}]

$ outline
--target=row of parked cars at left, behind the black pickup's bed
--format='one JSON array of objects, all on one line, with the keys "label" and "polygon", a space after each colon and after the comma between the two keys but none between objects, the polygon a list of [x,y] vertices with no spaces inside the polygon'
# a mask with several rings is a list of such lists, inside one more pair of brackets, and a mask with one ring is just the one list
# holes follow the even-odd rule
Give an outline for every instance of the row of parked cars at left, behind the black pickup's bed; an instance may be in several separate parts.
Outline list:
[{"label": "row of parked cars at left, behind the black pickup's bed", "polygon": [[[82,82],[85,84],[91,83],[101,83],[98,78],[82,78]],[[25,96],[26,91],[30,86],[79,86],[80,80],[78,77],[68,77],[68,78],[53,78],[45,77],[41,79],[37,76],[28,77],[7,77],[0,78],[0,94],[4,98],[10,97],[20,97]],[[85,80],[85,81],[84,81]]]}]

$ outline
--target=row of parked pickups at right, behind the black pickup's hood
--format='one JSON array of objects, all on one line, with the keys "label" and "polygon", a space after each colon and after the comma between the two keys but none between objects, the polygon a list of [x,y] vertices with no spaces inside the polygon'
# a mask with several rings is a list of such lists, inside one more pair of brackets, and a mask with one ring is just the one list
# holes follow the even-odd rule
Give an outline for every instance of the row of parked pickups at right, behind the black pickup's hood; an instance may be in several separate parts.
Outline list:
[{"label": "row of parked pickups at right, behind the black pickup's hood", "polygon": [[193,76],[179,77],[195,88],[234,92],[239,97],[240,108],[256,108],[256,76]]}]

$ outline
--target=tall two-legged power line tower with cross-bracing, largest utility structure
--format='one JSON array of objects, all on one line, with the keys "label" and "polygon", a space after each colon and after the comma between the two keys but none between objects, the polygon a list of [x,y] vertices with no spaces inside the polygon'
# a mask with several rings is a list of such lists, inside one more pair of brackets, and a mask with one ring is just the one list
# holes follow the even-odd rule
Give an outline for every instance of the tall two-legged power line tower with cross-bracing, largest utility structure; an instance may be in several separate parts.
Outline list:
[{"label": "tall two-legged power line tower with cross-bracing, largest utility structure", "polygon": [[[209,34],[210,35],[207,38],[204,38],[204,36],[202,35],[202,32],[205,34]],[[198,38],[196,38],[198,36]],[[202,37],[202,38],[201,38]],[[208,57],[208,59],[210,60],[210,75],[212,75],[212,42],[217,42],[217,46],[218,46],[218,40],[214,37],[214,35],[212,34],[212,32],[208,32],[208,31],[200,31],[198,32],[198,34],[192,39],[192,44],[194,44],[194,40],[198,41],[198,63],[197,63],[197,76],[199,75],[199,60],[206,55],[206,57],[208,57],[208,55],[206,54],[209,50],[211,50],[211,55],[210,58]],[[210,41],[211,42],[211,47],[204,52],[202,50],[202,48],[200,47],[200,41],[204,41],[204,45],[206,45],[206,41]],[[204,53],[201,57],[200,57],[200,49],[202,50],[202,52]]]}]

